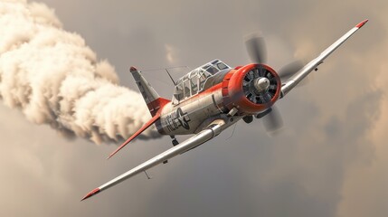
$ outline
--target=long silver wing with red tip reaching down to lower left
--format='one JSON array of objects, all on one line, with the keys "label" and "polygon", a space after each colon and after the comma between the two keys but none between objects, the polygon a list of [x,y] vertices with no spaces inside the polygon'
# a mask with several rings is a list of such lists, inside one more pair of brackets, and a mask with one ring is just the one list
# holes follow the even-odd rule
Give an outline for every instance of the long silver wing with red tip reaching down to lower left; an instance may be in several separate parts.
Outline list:
[{"label": "long silver wing with red tip reaching down to lower left", "polygon": [[208,127],[204,128],[201,132],[194,135],[193,137],[186,139],[181,144],[166,150],[164,153],[147,160],[145,163],[143,163],[141,165],[137,165],[137,167],[129,170],[127,173],[125,173],[123,175],[119,175],[118,177],[110,180],[108,183],[102,184],[98,188],[95,188],[93,191],[86,194],[86,196],[83,197],[81,201],[89,198],[92,195],[95,195],[99,192],[102,192],[102,191],[108,189],[109,187],[112,187],[116,184],[119,184],[122,181],[124,181],[124,180],[126,180],[134,175],[137,175],[141,172],[144,172],[147,169],[154,167],[155,165],[159,165],[159,164],[165,162],[166,160],[168,160],[174,156],[177,156],[179,154],[183,154],[186,151],[194,148],[195,146],[200,146],[204,142],[219,135],[222,132],[223,125],[225,125],[224,120],[222,120],[222,119],[214,120],[212,122],[212,124],[210,124]]}]

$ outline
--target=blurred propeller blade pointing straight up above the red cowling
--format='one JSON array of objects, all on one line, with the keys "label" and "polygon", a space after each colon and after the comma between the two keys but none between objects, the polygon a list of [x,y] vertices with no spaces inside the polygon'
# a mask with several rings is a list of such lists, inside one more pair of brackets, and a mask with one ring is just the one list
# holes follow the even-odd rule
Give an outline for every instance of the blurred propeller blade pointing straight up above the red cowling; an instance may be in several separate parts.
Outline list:
[{"label": "blurred propeller blade pointing straight up above the red cowling", "polygon": [[267,46],[264,37],[253,34],[246,39],[245,46],[247,47],[251,61],[254,63],[267,62]]}]

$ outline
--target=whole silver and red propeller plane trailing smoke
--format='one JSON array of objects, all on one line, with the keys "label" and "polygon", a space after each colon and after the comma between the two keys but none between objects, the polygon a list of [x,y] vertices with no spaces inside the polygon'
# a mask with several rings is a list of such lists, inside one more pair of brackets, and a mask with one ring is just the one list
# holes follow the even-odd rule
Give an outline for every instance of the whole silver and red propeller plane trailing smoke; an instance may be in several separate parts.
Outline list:
[{"label": "whole silver and red propeller plane trailing smoke", "polygon": [[[291,63],[280,69],[279,73],[266,64],[263,38],[252,37],[246,41],[246,46],[254,63],[232,68],[220,60],[210,61],[176,81],[172,100],[159,97],[140,71],[131,67],[130,72],[136,80],[152,118],[132,137],[118,146],[109,158],[153,125],[160,134],[170,136],[174,146],[137,165],[127,173],[100,185],[86,194],[82,200],[202,145],[241,119],[251,123],[253,118],[266,117],[270,120],[265,125],[267,130],[273,131],[281,127],[282,121],[273,107],[274,104],[279,99],[283,99],[311,71],[317,71],[317,67],[326,57],[367,21],[364,20],[355,25],[308,64]],[[193,137],[181,143],[178,143],[175,138],[177,135],[193,134]]]}]

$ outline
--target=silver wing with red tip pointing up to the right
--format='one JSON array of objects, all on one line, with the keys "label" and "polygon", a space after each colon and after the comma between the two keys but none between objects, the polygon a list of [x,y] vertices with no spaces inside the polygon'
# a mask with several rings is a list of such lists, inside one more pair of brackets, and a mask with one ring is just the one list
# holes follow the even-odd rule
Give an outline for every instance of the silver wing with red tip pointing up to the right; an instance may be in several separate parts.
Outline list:
[{"label": "silver wing with red tip pointing up to the right", "polygon": [[287,93],[289,93],[289,90],[295,88],[295,86],[297,86],[301,80],[306,78],[306,76],[308,76],[311,71],[317,69],[317,66],[321,64],[328,55],[336,51],[336,48],[338,48],[342,43],[344,43],[348,38],[350,38],[352,34],[357,32],[357,30],[359,30],[364,24],[366,24],[366,22],[368,22],[368,20],[364,20],[360,24],[355,25],[354,28],[352,28],[349,32],[345,33],[324,52],[321,52],[316,59],[308,62],[308,64],[305,65],[300,71],[298,71],[296,75],[292,76],[289,80],[287,80],[281,87],[281,98],[283,98]]}]

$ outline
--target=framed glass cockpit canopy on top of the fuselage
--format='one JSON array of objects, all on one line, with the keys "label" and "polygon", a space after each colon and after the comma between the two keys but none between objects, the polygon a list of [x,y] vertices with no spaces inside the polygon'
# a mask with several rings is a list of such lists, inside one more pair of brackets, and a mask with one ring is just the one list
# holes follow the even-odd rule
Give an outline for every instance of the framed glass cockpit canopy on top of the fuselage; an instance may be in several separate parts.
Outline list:
[{"label": "framed glass cockpit canopy on top of the fuselage", "polygon": [[184,77],[176,81],[173,103],[177,104],[183,99],[187,99],[198,92],[204,90],[206,80],[219,71],[231,69],[220,60],[214,60],[190,71]]}]

